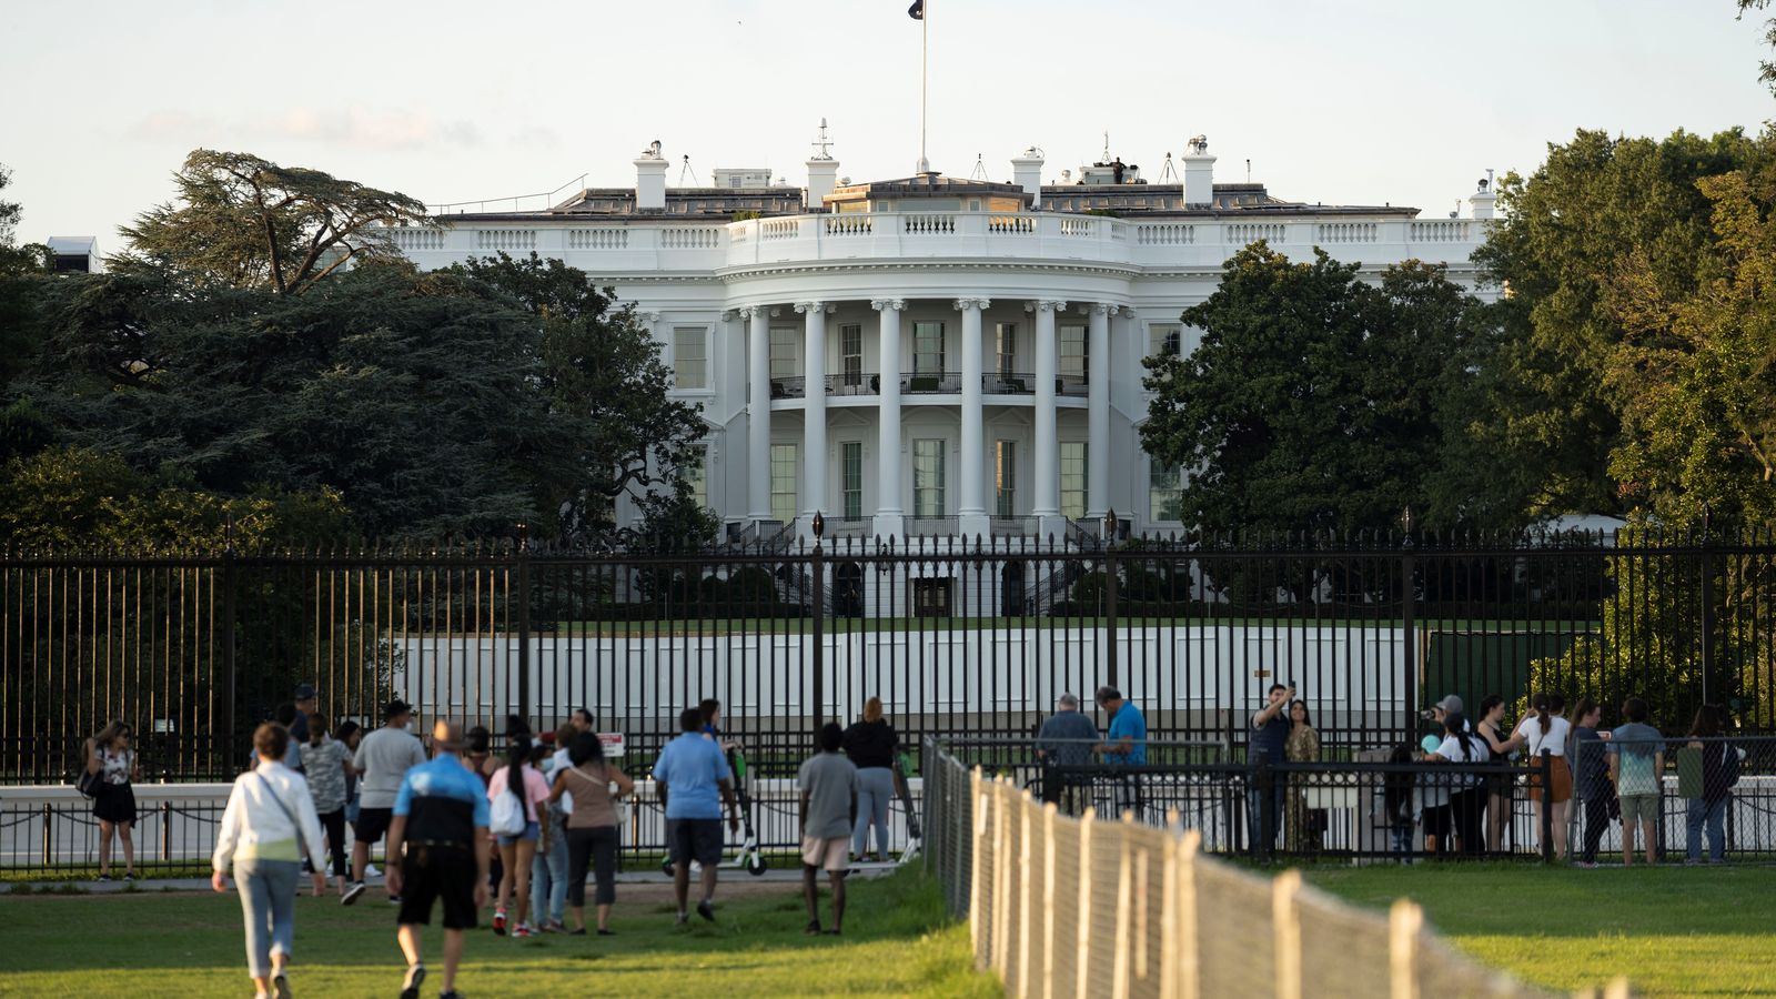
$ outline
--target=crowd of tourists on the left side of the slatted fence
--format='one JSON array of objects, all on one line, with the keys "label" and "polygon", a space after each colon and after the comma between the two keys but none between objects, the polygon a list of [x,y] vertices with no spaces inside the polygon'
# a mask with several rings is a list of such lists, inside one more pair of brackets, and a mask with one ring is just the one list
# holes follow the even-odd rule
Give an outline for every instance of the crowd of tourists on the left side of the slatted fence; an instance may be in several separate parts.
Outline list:
[{"label": "crowd of tourists on the left side of the slatted fence", "polygon": [[[316,709],[314,688],[298,686],[293,700],[252,732],[249,768],[234,780],[220,819],[211,887],[229,891],[233,875],[245,923],[247,972],[258,995],[291,995],[300,882],[307,878],[316,896],[325,894],[330,871],[341,903],[357,905],[375,876],[377,843],[385,843],[382,876],[389,901],[398,907],[405,999],[417,999],[430,974],[421,928],[439,910],[442,999],[460,995],[456,971],[465,935],[488,907],[492,933],[503,937],[616,935],[611,908],[618,846],[636,782],[606,757],[588,711],[574,711],[561,727],[540,736],[511,716],[499,755],[485,727],[464,729],[449,720],[430,729],[428,747],[414,732],[414,707],[403,700],[384,706],[375,731],[364,732],[350,722],[330,729],[330,718]],[[721,731],[721,702],[686,707],[678,729],[661,748],[650,777],[664,811],[682,926],[693,912],[716,921],[725,834],[739,832],[742,816],[733,763],[741,747]],[[888,811],[900,779],[900,747],[874,697],[852,725],[828,723],[813,736],[817,752],[796,777],[806,930],[842,933],[844,878],[852,860],[888,859]],[[82,789],[92,796],[101,823],[103,880],[110,878],[112,839],[123,844],[124,878],[135,876],[131,780],[139,777],[139,759],[131,741],[130,725],[114,722],[85,747]],[[822,875],[831,892],[829,924],[822,924],[819,912]]]}]

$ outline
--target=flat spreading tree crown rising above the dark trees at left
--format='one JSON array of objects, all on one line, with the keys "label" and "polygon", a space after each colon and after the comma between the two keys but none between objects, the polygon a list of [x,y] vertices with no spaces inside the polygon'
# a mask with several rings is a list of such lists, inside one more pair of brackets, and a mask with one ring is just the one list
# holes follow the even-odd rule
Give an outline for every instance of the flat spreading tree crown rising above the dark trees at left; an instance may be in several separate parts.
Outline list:
[{"label": "flat spreading tree crown rising above the dark trees at left", "polygon": [[121,229],[133,245],[126,267],[300,293],[350,261],[398,256],[389,226],[430,222],[405,194],[250,153],[194,149],[172,181],[178,201]]}]

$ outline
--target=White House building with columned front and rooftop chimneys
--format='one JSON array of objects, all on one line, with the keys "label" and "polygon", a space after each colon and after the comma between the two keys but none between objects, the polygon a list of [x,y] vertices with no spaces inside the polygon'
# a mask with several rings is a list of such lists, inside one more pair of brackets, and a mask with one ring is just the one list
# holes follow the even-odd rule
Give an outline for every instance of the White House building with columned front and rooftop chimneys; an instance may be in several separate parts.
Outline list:
[{"label": "White House building with columned front and rooftop chimneys", "polygon": [[1192,139],[1160,181],[1121,160],[1044,185],[918,174],[847,183],[819,144],[806,187],[716,171],[668,187],[655,142],[634,188],[536,212],[440,213],[394,231],[421,267],[508,251],[586,270],[652,325],[709,423],[703,501],[735,530],[828,537],[1060,537],[1108,510],[1176,530],[1179,469],[1142,452],[1142,359],[1190,350],[1179,313],[1254,240],[1366,270],[1469,256],[1494,213],[1327,206],[1217,183]]}]

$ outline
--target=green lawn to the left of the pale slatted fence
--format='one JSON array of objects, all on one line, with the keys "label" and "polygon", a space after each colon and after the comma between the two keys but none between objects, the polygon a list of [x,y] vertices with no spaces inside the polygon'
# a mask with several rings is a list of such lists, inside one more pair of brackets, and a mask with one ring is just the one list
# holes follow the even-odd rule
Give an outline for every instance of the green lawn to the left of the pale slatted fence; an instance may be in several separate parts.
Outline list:
[{"label": "green lawn to the left of the pale slatted fence", "polygon": [[[513,940],[471,935],[458,987],[467,995],[998,995],[971,972],[968,930],[943,915],[918,871],[854,882],[845,935],[805,937],[799,887],[760,883],[719,921],[677,928],[671,907],[618,887],[616,937]],[[652,885],[648,894],[659,898]],[[392,995],[403,962],[394,907],[371,891],[297,905],[298,995]],[[824,901],[824,898],[822,898]],[[485,921],[483,921],[485,923]],[[426,939],[437,994],[440,931]],[[231,892],[0,894],[0,995],[250,994],[240,903]]]}]

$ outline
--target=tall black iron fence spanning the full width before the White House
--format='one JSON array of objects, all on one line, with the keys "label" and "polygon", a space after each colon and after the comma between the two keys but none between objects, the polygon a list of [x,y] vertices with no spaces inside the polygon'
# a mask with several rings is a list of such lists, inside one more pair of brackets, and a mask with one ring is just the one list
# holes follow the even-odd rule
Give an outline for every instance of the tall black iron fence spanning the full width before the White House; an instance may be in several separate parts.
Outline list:
[{"label": "tall black iron fence spanning the full width before the White House", "polygon": [[[1103,542],[1099,537],[1117,539]],[[0,780],[64,782],[80,743],[135,723],[147,779],[226,779],[297,683],[375,723],[401,697],[551,727],[586,707],[648,754],[725,702],[755,738],[881,697],[906,738],[1032,731],[1062,691],[1122,688],[1156,738],[1243,761],[1293,683],[1321,743],[1428,731],[1447,693],[1629,695],[1687,731],[1726,704],[1776,718],[1776,544],[1618,531],[771,539],[678,555],[341,546],[179,556],[0,556]],[[801,738],[801,736],[796,736]]]}]

